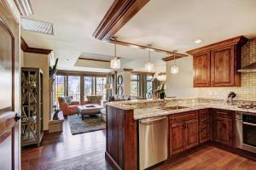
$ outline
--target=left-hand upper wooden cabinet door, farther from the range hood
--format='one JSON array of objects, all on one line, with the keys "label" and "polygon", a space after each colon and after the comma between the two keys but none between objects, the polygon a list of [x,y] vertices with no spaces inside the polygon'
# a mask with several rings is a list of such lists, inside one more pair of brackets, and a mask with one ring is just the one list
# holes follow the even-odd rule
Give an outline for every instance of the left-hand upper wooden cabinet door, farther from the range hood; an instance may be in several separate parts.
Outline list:
[{"label": "left-hand upper wooden cabinet door, farther from the range hood", "polygon": [[210,52],[195,54],[193,56],[194,87],[211,86],[211,58]]}]

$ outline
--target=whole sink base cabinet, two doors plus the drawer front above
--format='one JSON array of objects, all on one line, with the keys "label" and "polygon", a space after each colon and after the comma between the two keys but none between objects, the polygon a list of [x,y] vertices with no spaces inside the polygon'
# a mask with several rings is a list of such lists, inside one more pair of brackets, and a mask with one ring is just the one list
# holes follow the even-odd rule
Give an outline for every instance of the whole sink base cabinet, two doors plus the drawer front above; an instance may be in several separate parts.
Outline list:
[{"label": "whole sink base cabinet, two doors plus the drawer front above", "polygon": [[171,156],[198,145],[197,111],[170,116],[169,130]]}]

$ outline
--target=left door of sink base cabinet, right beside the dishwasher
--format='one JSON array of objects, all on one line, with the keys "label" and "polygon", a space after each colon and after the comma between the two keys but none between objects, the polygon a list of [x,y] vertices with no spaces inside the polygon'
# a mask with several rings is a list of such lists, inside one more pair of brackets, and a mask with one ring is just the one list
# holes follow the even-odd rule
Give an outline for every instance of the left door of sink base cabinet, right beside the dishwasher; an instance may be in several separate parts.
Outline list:
[{"label": "left door of sink base cabinet, right beside the dishwasher", "polygon": [[170,155],[184,150],[184,122],[172,123],[170,126]]}]

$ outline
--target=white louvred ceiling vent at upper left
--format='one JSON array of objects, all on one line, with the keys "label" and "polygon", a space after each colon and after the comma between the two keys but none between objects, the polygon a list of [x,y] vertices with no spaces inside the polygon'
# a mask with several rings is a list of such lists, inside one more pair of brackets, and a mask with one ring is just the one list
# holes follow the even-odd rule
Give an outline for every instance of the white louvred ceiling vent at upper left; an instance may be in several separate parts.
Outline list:
[{"label": "white louvred ceiling vent at upper left", "polygon": [[49,22],[21,18],[21,28],[26,31],[35,31],[42,34],[54,35],[54,25]]}]

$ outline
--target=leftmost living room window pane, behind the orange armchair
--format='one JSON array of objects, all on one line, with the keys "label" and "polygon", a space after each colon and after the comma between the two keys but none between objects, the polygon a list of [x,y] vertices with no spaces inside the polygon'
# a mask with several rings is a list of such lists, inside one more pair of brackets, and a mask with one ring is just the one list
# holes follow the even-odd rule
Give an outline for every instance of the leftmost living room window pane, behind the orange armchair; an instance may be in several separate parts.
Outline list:
[{"label": "leftmost living room window pane, behind the orange armchair", "polygon": [[55,102],[58,102],[58,97],[66,96],[66,77],[56,76],[55,77]]}]

